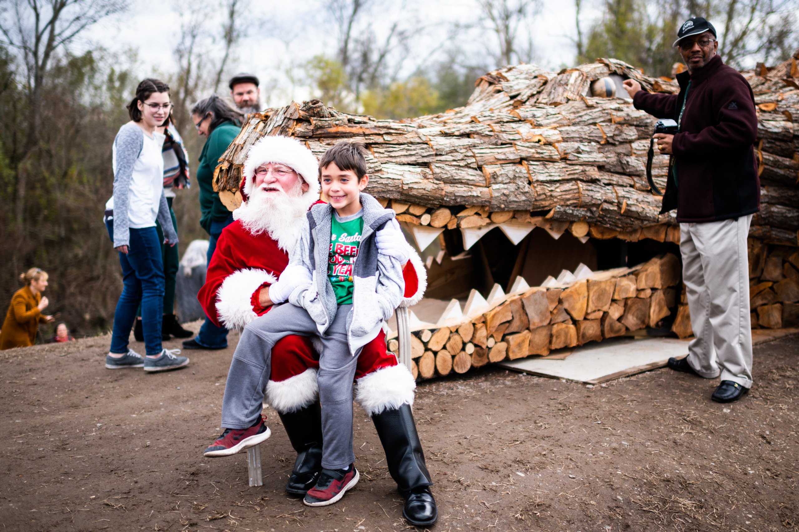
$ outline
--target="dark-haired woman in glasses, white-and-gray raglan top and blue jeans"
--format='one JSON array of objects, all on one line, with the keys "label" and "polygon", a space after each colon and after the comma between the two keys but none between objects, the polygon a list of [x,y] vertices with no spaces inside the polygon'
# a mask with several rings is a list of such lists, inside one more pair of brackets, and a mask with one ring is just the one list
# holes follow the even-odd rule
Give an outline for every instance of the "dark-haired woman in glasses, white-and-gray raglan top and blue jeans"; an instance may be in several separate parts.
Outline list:
[{"label": "dark-haired woman in glasses, white-and-gray raglan top and blue jeans", "polygon": [[[172,103],[169,86],[145,79],[128,104],[130,122],[119,128],[113,141],[113,196],[105,204],[105,226],[119,251],[122,294],[113,316],[111,349],[105,357],[110,370],[144,367],[145,371],[172,370],[189,359],[177,357],[180,350],[161,346],[161,316],[164,309],[164,263],[156,220],[164,230],[164,243],[177,244],[177,232],[164,195],[165,135],[158,133]],[[141,324],[145,357],[128,346],[130,330],[141,302]]]}]

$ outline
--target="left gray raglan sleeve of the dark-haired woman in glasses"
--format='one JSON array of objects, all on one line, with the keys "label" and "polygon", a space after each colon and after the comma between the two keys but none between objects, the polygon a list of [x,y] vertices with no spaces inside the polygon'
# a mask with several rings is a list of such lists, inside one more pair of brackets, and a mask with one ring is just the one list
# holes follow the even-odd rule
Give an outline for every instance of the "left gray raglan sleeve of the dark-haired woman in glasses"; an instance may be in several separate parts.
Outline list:
[{"label": "left gray raglan sleeve of the dark-haired woman in glasses", "polygon": [[144,132],[138,126],[122,126],[113,141],[117,146],[117,171],[113,174],[113,246],[130,244],[128,207],[133,164],[144,146]]}]

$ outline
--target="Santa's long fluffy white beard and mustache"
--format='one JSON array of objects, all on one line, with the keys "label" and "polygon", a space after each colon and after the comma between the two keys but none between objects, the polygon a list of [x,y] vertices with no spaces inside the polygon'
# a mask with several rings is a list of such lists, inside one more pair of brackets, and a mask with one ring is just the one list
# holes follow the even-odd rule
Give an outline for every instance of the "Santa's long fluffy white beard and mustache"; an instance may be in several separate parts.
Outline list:
[{"label": "Santa's long fluffy white beard and mustache", "polygon": [[312,200],[305,198],[300,182],[288,193],[283,190],[266,192],[253,186],[246,203],[233,211],[244,229],[252,234],[267,232],[281,250],[291,253],[300,238],[302,217]]}]

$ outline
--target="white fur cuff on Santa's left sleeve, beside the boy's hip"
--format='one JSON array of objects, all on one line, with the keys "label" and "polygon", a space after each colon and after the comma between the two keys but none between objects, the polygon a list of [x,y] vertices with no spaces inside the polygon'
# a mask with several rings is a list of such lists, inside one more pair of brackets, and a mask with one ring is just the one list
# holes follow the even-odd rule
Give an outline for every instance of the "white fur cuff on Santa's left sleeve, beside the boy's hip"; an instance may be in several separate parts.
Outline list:
[{"label": "white fur cuff on Santa's left sleeve, beside the boy's hip", "polygon": [[258,315],[252,310],[252,293],[277,279],[266,270],[238,270],[228,275],[217,290],[217,316],[228,329],[244,329]]}]

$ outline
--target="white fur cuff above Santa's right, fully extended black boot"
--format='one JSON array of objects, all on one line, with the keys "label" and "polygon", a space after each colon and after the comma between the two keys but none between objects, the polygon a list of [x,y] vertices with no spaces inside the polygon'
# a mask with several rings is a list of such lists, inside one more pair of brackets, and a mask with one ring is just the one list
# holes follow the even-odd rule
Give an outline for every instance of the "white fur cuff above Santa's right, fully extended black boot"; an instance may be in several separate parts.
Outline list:
[{"label": "white fur cuff above Santa's right, fully extended black boot", "polygon": [[413,405],[416,382],[402,364],[380,368],[356,381],[355,400],[369,416]]}]

